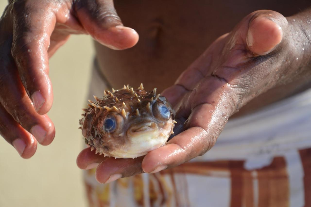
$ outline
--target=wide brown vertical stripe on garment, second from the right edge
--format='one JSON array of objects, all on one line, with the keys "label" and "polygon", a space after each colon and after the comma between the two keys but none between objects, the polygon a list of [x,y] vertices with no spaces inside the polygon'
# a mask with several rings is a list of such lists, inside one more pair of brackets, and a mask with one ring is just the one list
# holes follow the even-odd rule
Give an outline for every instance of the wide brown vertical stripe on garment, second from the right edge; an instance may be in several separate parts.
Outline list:
[{"label": "wide brown vertical stripe on garment, second from the right edge", "polygon": [[284,157],[275,157],[272,163],[257,170],[258,207],[289,205],[289,181]]}]

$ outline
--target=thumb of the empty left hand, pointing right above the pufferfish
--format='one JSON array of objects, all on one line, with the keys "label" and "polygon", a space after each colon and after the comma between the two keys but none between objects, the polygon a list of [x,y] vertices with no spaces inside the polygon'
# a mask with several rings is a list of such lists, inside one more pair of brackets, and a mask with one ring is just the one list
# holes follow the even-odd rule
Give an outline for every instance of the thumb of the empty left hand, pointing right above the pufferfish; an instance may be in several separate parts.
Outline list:
[{"label": "thumb of the empty left hand, pointing right above the pufferfish", "polygon": [[91,36],[112,49],[126,49],[138,41],[135,30],[124,27],[114,9],[113,0],[79,0],[77,17]]}]

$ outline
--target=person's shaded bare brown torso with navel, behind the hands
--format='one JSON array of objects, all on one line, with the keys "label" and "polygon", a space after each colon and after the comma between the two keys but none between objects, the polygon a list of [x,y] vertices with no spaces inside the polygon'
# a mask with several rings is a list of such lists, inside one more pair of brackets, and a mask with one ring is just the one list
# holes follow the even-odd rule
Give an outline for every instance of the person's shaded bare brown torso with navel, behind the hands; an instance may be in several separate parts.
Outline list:
[{"label": "person's shaded bare brown torso with navel, behind the hands", "polygon": [[[95,43],[100,70],[114,88],[142,82],[147,90],[164,90],[220,35],[247,14],[270,9],[290,16],[310,2],[283,1],[115,1],[125,26],[140,35],[133,48],[114,51]],[[248,113],[309,87],[293,83],[260,95],[238,114]]]}]

